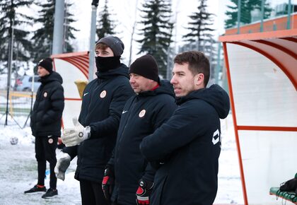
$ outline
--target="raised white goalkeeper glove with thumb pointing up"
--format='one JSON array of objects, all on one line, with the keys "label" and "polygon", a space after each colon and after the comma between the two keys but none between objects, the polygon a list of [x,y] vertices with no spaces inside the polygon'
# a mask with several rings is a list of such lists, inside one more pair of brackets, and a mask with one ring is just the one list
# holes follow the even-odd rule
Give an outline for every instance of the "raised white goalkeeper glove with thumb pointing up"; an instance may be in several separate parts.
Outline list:
[{"label": "raised white goalkeeper glove with thumb pointing up", "polygon": [[89,139],[91,136],[91,128],[83,127],[76,118],[73,119],[74,128],[64,129],[61,139],[65,146],[75,146],[82,141]]}]

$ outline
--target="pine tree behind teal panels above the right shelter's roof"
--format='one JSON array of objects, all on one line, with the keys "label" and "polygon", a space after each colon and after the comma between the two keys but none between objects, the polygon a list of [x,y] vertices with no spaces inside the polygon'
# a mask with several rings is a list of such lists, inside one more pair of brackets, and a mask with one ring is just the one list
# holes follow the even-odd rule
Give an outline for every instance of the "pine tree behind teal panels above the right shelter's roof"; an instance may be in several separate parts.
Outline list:
[{"label": "pine tree behind teal panels above the right shelter's roof", "polygon": [[[230,0],[233,6],[227,6],[225,28],[233,28],[238,25],[238,0]],[[269,18],[272,8],[264,1],[264,19]],[[241,0],[240,1],[240,24],[252,23],[251,11],[261,11],[262,0]]]}]

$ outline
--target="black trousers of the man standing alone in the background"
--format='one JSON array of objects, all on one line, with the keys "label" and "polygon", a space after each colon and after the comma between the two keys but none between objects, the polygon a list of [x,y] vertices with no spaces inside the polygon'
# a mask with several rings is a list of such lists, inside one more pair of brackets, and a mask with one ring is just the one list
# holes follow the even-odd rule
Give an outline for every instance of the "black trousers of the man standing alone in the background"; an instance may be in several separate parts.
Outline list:
[{"label": "black trousers of the man standing alone in the background", "polygon": [[57,164],[56,149],[58,136],[36,136],[35,158],[37,160],[38,182],[37,185],[45,185],[45,170],[47,161],[50,163],[50,188],[57,188],[57,177],[54,167]]}]

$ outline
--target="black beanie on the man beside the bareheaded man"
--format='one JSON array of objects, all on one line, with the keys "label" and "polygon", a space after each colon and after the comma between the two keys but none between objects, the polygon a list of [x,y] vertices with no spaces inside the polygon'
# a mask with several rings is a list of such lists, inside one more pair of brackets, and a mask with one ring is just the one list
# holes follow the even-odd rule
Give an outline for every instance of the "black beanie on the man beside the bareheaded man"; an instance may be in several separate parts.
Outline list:
[{"label": "black beanie on the man beside the bareheaded man", "polygon": [[156,59],[146,54],[136,59],[130,66],[129,74],[138,74],[145,78],[159,82],[158,64]]}]

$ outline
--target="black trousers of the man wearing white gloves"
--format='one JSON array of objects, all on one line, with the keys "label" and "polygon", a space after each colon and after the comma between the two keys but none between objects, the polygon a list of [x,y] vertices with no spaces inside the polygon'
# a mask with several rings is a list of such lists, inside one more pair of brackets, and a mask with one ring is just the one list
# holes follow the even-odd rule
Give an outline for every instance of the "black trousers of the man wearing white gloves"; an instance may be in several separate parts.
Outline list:
[{"label": "black trousers of the man wearing white gloves", "polygon": [[110,205],[104,197],[101,183],[80,180],[79,184],[82,205]]}]

